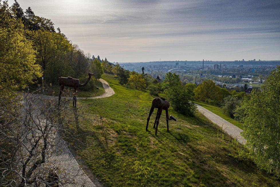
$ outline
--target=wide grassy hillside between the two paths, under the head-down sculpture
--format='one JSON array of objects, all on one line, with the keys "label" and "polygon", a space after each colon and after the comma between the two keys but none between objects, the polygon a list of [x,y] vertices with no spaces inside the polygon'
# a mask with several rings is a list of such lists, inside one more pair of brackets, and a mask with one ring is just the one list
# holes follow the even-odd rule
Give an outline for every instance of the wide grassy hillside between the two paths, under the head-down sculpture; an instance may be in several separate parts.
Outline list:
[{"label": "wide grassy hillside between the two paths, under the head-down sculpture", "polygon": [[69,128],[80,135],[77,153],[106,186],[280,186],[238,155],[244,148],[200,113],[186,117],[170,108],[177,121],[169,121],[167,132],[161,115],[155,136],[155,110],[146,132],[154,97],[143,91],[135,96],[111,75],[102,78],[115,95],[84,100],[89,106]]}]

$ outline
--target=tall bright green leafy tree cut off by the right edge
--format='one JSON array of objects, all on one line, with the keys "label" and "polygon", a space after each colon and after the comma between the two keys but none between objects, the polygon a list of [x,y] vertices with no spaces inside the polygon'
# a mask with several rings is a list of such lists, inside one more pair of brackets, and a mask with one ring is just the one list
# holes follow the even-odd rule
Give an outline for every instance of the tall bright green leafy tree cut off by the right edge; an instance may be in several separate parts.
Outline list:
[{"label": "tall bright green leafy tree cut off by the right edge", "polygon": [[253,89],[244,108],[243,133],[255,163],[280,176],[280,66],[267,79],[264,90]]}]

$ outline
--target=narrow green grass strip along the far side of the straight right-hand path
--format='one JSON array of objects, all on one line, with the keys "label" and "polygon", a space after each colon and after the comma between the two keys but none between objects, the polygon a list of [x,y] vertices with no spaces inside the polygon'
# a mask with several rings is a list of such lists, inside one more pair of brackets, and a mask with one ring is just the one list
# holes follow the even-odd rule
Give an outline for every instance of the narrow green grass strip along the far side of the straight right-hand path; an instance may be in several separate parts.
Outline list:
[{"label": "narrow green grass strip along the far side of the straight right-hand path", "polygon": [[239,128],[242,129],[242,123],[226,116],[223,112],[222,109],[216,105],[212,105],[212,104],[207,104],[204,102],[198,102],[196,101],[195,103],[199,104],[200,106],[206,108],[207,110],[213,112],[214,114],[217,114],[218,116],[220,116],[221,118],[223,118],[224,120],[227,120],[228,122],[234,124],[235,126],[238,126]]}]

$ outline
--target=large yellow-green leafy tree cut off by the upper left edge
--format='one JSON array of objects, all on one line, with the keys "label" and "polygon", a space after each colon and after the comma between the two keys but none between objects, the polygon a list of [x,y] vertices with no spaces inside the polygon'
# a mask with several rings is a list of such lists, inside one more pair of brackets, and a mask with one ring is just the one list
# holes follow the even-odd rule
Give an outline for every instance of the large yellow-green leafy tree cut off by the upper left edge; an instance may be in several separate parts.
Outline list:
[{"label": "large yellow-green leafy tree cut off by the upper left edge", "polygon": [[36,51],[24,37],[24,26],[13,18],[13,11],[6,1],[0,3],[0,94],[11,96],[18,88],[24,88],[41,76],[35,64]]}]

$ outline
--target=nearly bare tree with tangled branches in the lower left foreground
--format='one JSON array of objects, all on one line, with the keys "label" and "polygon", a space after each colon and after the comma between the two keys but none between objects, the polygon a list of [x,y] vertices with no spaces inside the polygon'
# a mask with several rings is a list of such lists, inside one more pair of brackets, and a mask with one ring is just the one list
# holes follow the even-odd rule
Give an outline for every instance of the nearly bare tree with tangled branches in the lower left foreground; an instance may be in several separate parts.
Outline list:
[{"label": "nearly bare tree with tangled branches in the lower left foreground", "polygon": [[9,105],[0,100],[0,186],[67,186],[81,174],[69,174],[63,157],[71,154],[65,137],[74,138],[67,126],[78,108],[66,97],[58,108],[56,100],[34,93],[19,94],[20,102]]}]

